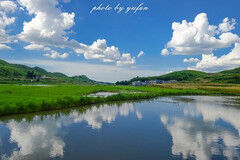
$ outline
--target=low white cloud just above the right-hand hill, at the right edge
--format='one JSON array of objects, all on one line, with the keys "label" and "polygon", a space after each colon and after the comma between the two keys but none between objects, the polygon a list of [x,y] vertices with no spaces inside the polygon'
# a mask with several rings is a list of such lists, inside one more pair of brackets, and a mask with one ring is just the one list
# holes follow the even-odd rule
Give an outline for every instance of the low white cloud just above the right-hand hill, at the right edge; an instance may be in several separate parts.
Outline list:
[{"label": "low white cloud just above the right-hand hill, at the right edge", "polygon": [[202,70],[209,72],[216,72],[226,69],[233,69],[240,67],[240,44],[236,43],[232,51],[221,57],[214,56],[214,54],[203,54],[202,60],[196,66],[189,67],[191,70]]}]

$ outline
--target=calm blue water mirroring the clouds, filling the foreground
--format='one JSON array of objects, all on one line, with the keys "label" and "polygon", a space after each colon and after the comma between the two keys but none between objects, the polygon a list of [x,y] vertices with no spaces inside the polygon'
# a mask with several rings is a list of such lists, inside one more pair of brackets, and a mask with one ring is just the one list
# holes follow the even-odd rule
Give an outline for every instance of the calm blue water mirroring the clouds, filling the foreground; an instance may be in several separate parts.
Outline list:
[{"label": "calm blue water mirroring the clouds, filling the foreground", "polygon": [[0,159],[240,159],[231,97],[168,97],[0,119]]}]

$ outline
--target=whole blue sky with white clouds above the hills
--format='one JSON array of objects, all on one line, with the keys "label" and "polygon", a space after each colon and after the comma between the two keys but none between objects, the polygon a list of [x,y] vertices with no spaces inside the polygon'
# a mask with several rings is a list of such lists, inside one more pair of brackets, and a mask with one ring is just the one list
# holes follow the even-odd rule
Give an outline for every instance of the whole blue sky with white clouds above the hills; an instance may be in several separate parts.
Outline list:
[{"label": "whole blue sky with white clouds above the hills", "polygon": [[[102,10],[94,10],[100,5]],[[240,67],[239,5],[239,0],[0,0],[0,59],[106,82],[232,69]],[[116,6],[124,9],[117,13]]]}]

